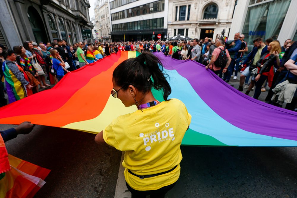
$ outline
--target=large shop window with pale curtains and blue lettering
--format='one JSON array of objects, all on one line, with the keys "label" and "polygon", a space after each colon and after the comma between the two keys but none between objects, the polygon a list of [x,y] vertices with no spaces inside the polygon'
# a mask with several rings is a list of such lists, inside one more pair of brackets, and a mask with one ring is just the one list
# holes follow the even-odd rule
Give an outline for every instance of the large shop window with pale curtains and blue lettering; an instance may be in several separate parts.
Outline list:
[{"label": "large shop window with pale curtains and blue lettering", "polygon": [[275,0],[248,8],[243,34],[248,45],[261,37],[277,39],[291,0]]}]

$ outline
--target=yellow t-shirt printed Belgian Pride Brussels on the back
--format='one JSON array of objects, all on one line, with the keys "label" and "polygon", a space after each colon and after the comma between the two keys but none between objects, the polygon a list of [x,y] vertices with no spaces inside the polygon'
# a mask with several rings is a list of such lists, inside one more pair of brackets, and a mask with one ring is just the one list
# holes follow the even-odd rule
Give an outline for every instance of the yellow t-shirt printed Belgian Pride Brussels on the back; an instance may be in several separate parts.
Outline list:
[{"label": "yellow t-shirt printed Belgian Pride Brussels on the back", "polygon": [[[125,151],[124,175],[135,190],[157,190],[176,182],[180,174],[181,140],[191,122],[186,106],[178,99],[163,101],[156,106],[119,116],[103,131],[105,142]],[[137,175],[152,175],[140,179]]]}]

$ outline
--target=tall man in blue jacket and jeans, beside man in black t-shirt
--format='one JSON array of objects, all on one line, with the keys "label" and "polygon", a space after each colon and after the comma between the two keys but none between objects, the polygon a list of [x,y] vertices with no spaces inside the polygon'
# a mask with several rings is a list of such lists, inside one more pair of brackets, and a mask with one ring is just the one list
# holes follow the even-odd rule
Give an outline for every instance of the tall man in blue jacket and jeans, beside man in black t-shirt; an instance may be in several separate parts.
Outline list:
[{"label": "tall man in blue jacket and jeans, beside man in black t-shirt", "polygon": [[[235,66],[235,61],[237,58],[238,50],[240,50],[241,47],[241,41],[239,40],[240,32],[236,32],[234,35],[234,40],[228,47],[228,52],[231,56],[231,63],[228,66],[227,72],[224,74],[223,80],[225,80],[227,83],[230,81],[231,75],[233,74],[234,71],[234,66]],[[231,46],[233,46],[230,48]]]}]

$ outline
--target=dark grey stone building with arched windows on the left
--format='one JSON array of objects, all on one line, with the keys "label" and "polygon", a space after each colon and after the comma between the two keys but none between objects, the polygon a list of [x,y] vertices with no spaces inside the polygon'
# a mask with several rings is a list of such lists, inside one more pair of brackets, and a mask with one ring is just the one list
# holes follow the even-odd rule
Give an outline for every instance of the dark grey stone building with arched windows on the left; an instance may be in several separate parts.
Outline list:
[{"label": "dark grey stone building with arched windows on the left", "polygon": [[10,48],[26,40],[92,41],[87,0],[2,0],[0,4],[0,42]]}]

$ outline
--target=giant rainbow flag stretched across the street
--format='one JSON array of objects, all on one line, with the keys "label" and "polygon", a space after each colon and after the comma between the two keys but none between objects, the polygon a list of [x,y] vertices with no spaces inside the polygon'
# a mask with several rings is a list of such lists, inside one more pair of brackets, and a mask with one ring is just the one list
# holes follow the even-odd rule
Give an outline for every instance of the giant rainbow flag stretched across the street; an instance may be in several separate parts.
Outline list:
[{"label": "giant rainbow flag stretched across the street", "polygon": [[[110,91],[116,66],[138,55],[119,52],[68,73],[54,88],[0,108],[0,123],[31,121],[97,134],[117,116],[137,110]],[[183,101],[192,115],[183,145],[297,146],[296,112],[244,95],[197,62],[155,55],[170,76],[169,97]],[[153,94],[162,101],[160,91]]]}]

